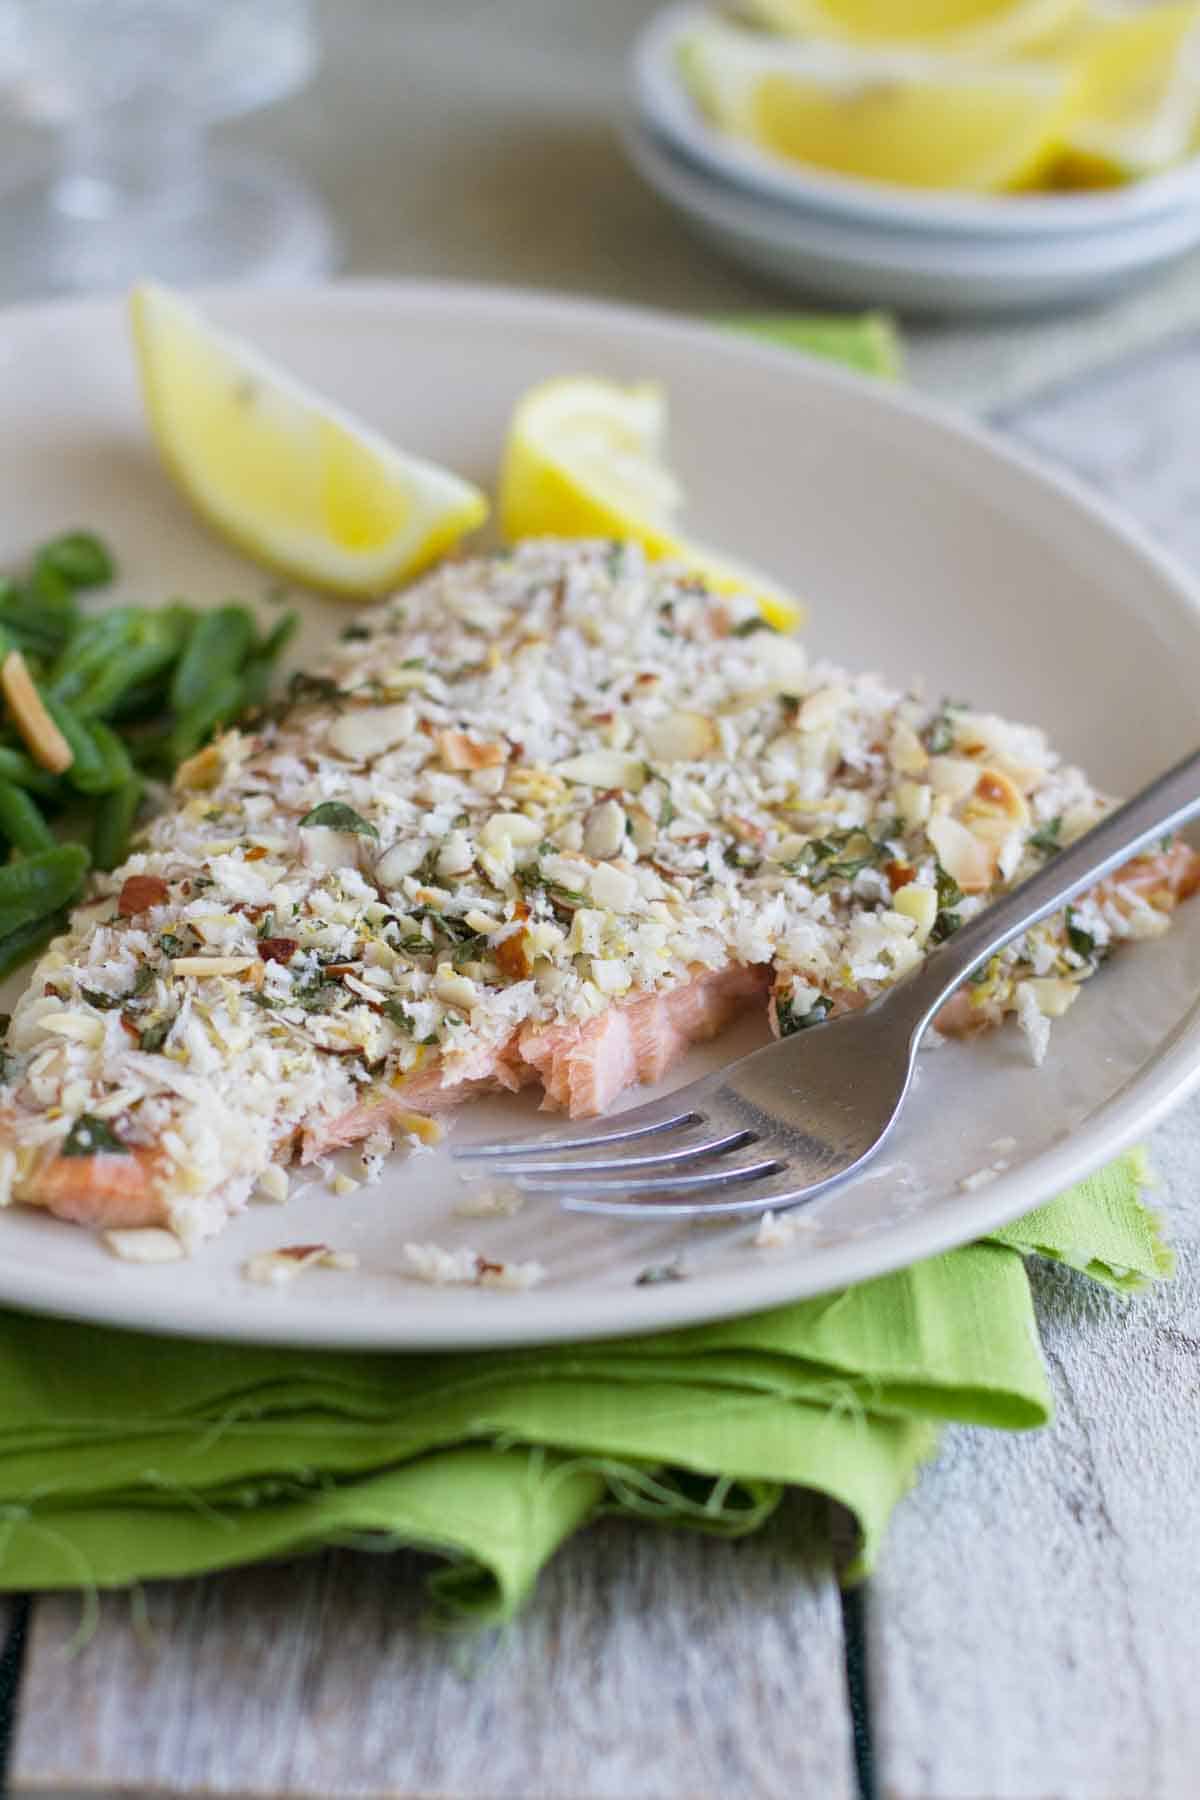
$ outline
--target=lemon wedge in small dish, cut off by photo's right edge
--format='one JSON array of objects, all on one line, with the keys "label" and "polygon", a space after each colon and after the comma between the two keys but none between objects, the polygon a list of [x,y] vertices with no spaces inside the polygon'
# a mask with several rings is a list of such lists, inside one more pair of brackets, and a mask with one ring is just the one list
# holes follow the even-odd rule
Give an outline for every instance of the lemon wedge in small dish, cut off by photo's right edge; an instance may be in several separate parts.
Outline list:
[{"label": "lemon wedge in small dish, cut off by photo's right edge", "polygon": [[1081,47],[1081,103],[1056,187],[1139,180],[1186,157],[1200,124],[1200,5],[1097,16]]}]

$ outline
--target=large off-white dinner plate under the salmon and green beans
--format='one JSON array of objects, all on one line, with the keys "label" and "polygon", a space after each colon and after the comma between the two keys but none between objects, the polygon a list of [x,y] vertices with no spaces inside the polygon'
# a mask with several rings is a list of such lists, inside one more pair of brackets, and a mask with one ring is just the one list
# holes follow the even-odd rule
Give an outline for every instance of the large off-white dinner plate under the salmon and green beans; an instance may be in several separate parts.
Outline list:
[{"label": "large off-white dinner plate under the salmon and green beans", "polygon": [[[416,450],[495,473],[513,401],[567,371],[658,376],[673,455],[705,536],[752,554],[813,603],[813,643],[851,664],[1054,727],[1096,779],[1132,788],[1195,743],[1200,610],[1157,551],[1072,484],[918,398],[734,333],[651,313],[457,286],[237,293],[212,313],[300,378]],[[142,428],[124,319],[74,304],[0,315],[0,567],[72,524],[106,531],[121,590],[216,601],[261,596],[255,569],[196,524]],[[345,614],[309,607],[308,643]],[[40,1213],[0,1217],[0,1300],[194,1336],[308,1345],[455,1346],[601,1336],[747,1312],[860,1282],[979,1237],[1135,1139],[1200,1075],[1200,905],[1166,940],[1114,958],[1034,1071],[1016,1031],[923,1060],[889,1152],[810,1210],[793,1246],[745,1226],[572,1219],[529,1201],[515,1219],[459,1219],[444,1152],[398,1157],[376,1188],[315,1183],[252,1206],[189,1264],[115,1262]],[[747,1024],[680,1078],[759,1042]],[[525,1100],[459,1114],[455,1136],[538,1129]],[[959,1181],[1015,1138],[993,1184]],[[239,1274],[259,1249],[320,1238],[356,1273],[282,1291]],[[430,1289],[403,1244],[471,1244],[538,1258],[525,1294]],[[687,1280],[635,1285],[682,1258]]]}]

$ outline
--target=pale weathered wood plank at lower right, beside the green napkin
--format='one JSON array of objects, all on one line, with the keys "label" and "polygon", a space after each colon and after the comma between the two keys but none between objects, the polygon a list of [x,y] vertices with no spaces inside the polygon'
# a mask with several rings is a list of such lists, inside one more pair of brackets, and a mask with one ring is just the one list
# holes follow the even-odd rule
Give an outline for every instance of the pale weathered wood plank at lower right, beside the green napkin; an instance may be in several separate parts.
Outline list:
[{"label": "pale weathered wood plank at lower right, beside the green napkin", "polygon": [[1178,1278],[1034,1282],[1058,1397],[954,1431],[867,1598],[885,1800],[1191,1800],[1200,1769],[1200,1103],[1155,1136]]}]

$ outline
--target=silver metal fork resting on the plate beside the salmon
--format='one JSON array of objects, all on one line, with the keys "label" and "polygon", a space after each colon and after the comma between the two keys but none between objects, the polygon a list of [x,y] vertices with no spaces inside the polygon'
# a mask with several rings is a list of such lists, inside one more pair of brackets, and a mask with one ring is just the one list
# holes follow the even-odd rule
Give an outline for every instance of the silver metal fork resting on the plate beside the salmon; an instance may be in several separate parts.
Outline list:
[{"label": "silver metal fork resting on the plate beside the salmon", "polygon": [[984,907],[860,1012],[741,1057],[604,1130],[462,1148],[569,1211],[756,1217],[847,1181],[887,1139],[921,1037],[961,981],[1126,857],[1200,814],[1200,751]]}]

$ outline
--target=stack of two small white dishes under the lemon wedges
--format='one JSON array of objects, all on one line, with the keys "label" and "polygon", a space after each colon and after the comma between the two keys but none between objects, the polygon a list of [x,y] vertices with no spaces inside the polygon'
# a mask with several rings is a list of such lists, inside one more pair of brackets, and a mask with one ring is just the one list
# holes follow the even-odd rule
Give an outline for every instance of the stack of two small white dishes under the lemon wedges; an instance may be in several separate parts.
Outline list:
[{"label": "stack of two small white dishes under the lemon wedges", "polygon": [[678,76],[711,18],[673,5],[631,58],[626,146],[705,239],[810,295],[909,311],[1006,313],[1101,301],[1200,243],[1200,158],[1128,187],[948,194],[788,164],[714,130]]}]

